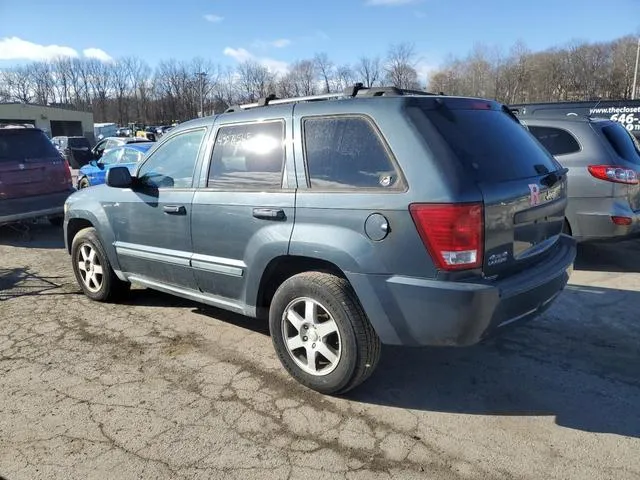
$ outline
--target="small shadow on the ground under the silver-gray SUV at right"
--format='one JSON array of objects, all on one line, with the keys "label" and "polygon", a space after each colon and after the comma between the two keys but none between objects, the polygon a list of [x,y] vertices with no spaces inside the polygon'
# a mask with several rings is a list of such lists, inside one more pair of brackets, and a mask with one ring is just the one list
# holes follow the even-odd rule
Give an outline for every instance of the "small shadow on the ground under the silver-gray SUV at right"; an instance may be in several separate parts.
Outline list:
[{"label": "small shadow on the ground under the silver-gray SUV at right", "polygon": [[640,273],[640,238],[579,244],[574,268],[586,272]]}]

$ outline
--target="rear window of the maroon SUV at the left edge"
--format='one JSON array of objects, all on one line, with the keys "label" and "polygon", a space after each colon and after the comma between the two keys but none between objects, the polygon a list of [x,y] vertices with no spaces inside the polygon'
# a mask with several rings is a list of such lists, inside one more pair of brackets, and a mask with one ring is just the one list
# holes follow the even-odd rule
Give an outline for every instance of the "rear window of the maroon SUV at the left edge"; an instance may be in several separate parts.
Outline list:
[{"label": "rear window of the maroon SUV at the left edge", "polygon": [[60,154],[40,130],[0,130],[0,162],[43,158],[59,159]]}]

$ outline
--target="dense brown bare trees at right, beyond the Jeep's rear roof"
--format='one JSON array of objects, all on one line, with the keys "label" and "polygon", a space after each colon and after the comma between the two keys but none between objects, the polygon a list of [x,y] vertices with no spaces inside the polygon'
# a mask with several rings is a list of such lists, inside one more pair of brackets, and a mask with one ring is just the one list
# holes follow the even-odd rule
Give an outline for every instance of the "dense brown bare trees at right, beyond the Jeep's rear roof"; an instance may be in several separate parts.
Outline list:
[{"label": "dense brown bare trees at right, beyond the Jeep's rear roof", "polygon": [[541,52],[522,42],[507,53],[479,44],[464,58],[449,58],[431,75],[429,89],[507,104],[629,99],[637,47],[634,36]]}]

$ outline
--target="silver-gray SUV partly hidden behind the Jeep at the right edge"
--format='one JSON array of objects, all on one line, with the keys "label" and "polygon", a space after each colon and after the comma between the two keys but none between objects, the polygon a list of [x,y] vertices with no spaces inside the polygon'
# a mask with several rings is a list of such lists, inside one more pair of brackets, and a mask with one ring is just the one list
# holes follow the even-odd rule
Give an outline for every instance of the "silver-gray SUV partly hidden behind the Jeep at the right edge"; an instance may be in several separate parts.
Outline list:
[{"label": "silver-gray SUV partly hidden behind the Jeep at the right edge", "polygon": [[565,232],[578,241],[640,234],[640,150],[619,122],[589,117],[521,117],[569,169]]}]

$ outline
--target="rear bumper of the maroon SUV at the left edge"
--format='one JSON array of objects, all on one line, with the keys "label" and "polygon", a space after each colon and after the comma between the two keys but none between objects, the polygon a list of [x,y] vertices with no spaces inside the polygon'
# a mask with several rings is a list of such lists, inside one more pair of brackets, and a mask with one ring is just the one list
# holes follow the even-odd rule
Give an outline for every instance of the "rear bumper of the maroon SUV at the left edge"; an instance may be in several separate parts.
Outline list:
[{"label": "rear bumper of the maroon SUV at the left edge", "polygon": [[0,200],[0,225],[40,217],[62,215],[64,202],[75,190]]}]

